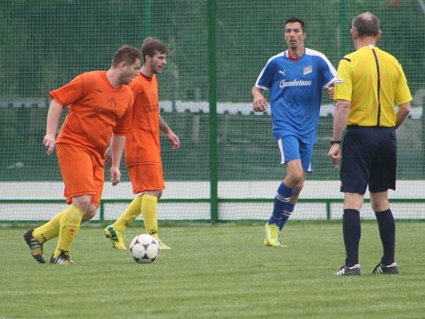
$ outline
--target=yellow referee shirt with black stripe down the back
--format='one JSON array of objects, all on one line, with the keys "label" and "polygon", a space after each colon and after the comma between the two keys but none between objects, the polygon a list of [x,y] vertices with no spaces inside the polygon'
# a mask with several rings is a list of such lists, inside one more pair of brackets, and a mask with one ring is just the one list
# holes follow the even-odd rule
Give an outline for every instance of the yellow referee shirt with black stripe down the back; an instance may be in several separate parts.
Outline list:
[{"label": "yellow referee shirt with black stripe down the back", "polygon": [[395,126],[394,104],[412,100],[399,61],[376,46],[364,46],[342,58],[335,100],[351,102],[347,125]]}]

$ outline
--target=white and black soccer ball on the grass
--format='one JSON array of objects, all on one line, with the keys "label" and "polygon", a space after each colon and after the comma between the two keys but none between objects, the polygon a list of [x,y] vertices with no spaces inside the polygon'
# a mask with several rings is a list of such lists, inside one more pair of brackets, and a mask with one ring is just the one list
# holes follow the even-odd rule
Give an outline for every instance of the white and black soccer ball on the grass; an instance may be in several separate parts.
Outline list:
[{"label": "white and black soccer ball on the grass", "polygon": [[159,242],[151,235],[137,235],[130,244],[130,253],[139,264],[150,264],[159,255]]}]

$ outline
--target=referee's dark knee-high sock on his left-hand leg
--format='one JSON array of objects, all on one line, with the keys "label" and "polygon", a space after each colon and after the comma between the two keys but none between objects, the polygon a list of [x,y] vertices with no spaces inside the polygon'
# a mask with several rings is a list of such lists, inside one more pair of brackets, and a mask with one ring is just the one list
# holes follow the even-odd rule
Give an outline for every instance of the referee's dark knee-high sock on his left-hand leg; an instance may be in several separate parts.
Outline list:
[{"label": "referee's dark knee-high sock on his left-hand leg", "polygon": [[362,233],[360,212],[355,209],[344,209],[342,215],[342,233],[346,247],[346,266],[353,267],[359,263],[359,242]]}]

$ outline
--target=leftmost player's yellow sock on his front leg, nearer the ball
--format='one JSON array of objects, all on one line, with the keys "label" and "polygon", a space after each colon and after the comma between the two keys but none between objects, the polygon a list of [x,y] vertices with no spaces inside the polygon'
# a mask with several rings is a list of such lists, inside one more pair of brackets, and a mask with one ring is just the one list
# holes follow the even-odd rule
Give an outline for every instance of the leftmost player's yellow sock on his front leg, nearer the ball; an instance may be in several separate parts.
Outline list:
[{"label": "leftmost player's yellow sock on his front leg, nearer the ball", "polygon": [[66,251],[67,253],[70,251],[83,215],[84,212],[74,205],[70,205],[66,211],[63,211],[63,216],[59,222],[59,238],[57,240],[55,255],[53,256],[54,258],[56,258],[61,251]]}]

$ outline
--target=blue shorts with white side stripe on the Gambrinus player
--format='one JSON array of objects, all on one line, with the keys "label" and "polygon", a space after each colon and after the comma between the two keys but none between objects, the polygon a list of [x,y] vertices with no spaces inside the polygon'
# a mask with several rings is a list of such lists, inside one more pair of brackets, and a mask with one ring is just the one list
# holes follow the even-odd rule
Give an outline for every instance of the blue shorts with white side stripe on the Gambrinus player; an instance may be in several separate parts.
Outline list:
[{"label": "blue shorts with white side stripe on the Gambrinus player", "polygon": [[286,135],[278,139],[277,144],[281,155],[281,165],[292,160],[301,160],[303,171],[306,173],[313,172],[311,167],[313,144],[305,144],[295,135]]}]

